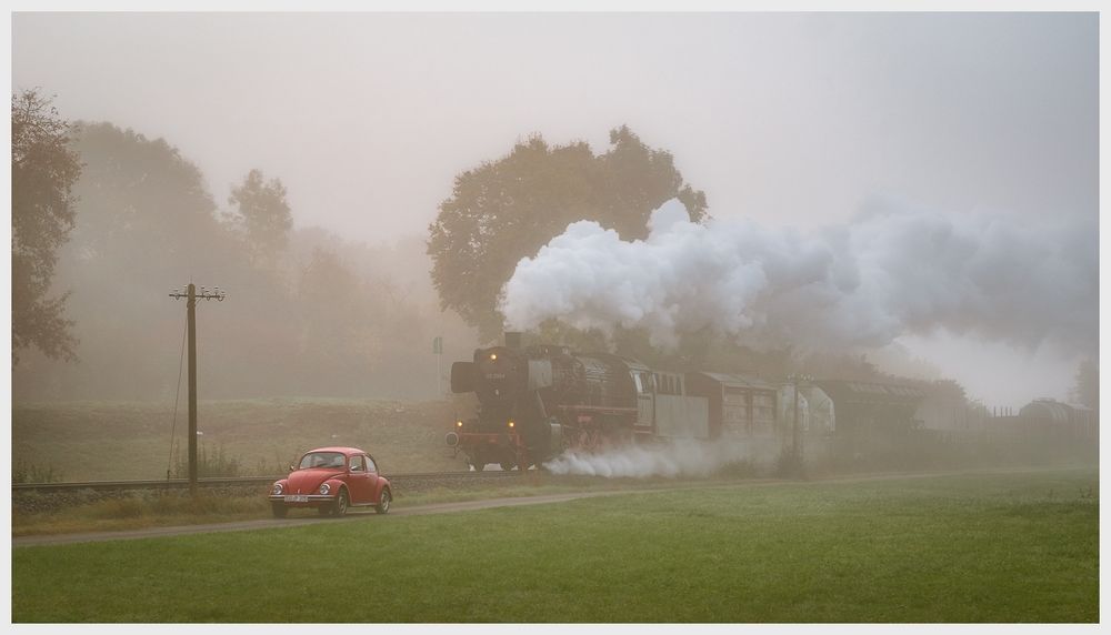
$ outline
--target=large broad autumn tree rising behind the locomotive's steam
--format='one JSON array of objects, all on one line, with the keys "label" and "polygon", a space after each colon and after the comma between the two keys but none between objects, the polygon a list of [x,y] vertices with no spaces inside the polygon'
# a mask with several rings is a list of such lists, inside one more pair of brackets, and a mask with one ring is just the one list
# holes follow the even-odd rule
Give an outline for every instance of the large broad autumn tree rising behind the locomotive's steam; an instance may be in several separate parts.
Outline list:
[{"label": "large broad autumn tree rising behind the locomotive's steam", "polygon": [[705,219],[705,195],[683,183],[671,153],[649,148],[627,127],[610,132],[610,144],[594,155],[587,143],[551,147],[536,135],[458,175],[429,225],[441,308],[492,340],[503,322],[498,295],[518,261],[568,224],[592,220],[625,240],[642,239],[651,212],[675,196],[694,221]]}]

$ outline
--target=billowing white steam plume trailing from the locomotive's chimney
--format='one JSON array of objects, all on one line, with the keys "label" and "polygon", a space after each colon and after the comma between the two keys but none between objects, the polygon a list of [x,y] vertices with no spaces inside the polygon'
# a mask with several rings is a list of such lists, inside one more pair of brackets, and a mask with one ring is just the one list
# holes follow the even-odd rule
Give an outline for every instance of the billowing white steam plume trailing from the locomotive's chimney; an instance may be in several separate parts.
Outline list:
[{"label": "billowing white steam plume trailing from the locomotive's chimney", "polygon": [[640,326],[669,347],[708,326],[754,346],[882,346],[945,329],[1030,349],[1095,347],[1094,219],[1021,224],[889,204],[803,233],[700,225],[671,200],[649,229],[629,242],[595,222],[570,224],[518,263],[502,291],[508,326]]}]

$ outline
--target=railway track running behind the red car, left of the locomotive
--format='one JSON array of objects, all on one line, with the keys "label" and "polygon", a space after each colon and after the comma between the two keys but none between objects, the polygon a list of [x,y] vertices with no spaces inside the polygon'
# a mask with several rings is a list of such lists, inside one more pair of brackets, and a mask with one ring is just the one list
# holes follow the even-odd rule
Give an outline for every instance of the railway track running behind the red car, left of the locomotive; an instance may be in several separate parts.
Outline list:
[{"label": "railway track running behind the red car, left of the locomotive", "polygon": [[[493,481],[499,478],[510,478],[521,476],[520,472],[426,472],[414,474],[384,474],[394,487],[412,487],[416,485],[429,485],[436,483],[454,483],[460,481]],[[199,487],[264,487],[286,475],[274,476],[237,476],[228,478],[199,478]],[[12,494],[67,494],[82,491],[92,492],[124,492],[124,491],[150,491],[150,490],[188,490],[189,481],[186,478],[161,478],[157,481],[86,481],[77,483],[13,483]]]}]

